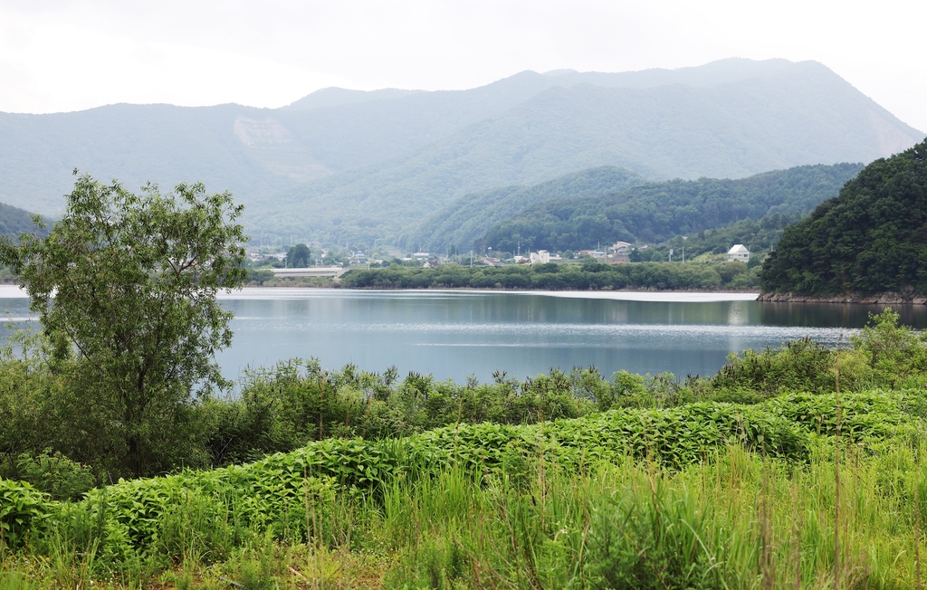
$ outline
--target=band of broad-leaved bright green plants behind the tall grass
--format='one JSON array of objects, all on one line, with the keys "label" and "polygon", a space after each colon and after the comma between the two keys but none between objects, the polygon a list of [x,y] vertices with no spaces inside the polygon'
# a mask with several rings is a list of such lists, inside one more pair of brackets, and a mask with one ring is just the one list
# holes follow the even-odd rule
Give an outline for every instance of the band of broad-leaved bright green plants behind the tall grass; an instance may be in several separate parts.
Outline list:
[{"label": "band of broad-leaved bright green plants behind the tall grass", "polygon": [[[910,408],[925,398],[920,390],[844,396],[844,440],[874,448],[910,439],[920,421]],[[244,466],[109,485],[78,503],[44,500],[22,486],[25,508],[2,522],[17,543],[29,531],[38,547],[49,535],[83,539],[111,567],[137,555],[179,559],[192,546],[214,561],[255,534],[309,542],[329,528],[336,497],[377,504],[391,485],[449,470],[529,485],[539,462],[565,476],[629,460],[684,471],[730,446],[800,464],[815,437],[835,433],[836,420],[835,395],[794,394],[756,406],[623,408],[524,426],[459,424],[396,440],[326,439]],[[31,520],[21,520],[24,511]]]}]

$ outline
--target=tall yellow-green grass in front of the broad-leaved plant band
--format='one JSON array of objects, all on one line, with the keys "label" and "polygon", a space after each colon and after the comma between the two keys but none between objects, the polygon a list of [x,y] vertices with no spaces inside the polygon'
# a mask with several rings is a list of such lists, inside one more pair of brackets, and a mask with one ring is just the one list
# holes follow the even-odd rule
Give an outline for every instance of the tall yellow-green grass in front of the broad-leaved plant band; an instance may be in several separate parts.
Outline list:
[{"label": "tall yellow-green grass in front of the broad-leaved plant band", "polygon": [[383,483],[379,496],[312,500],[326,516],[309,510],[307,534],[286,538],[236,530],[232,510],[217,523],[178,506],[121,568],[82,536],[93,526],[84,522],[53,529],[19,557],[6,553],[0,584],[917,587],[924,445],[843,450],[839,482],[832,440],[823,439],[797,465],[729,446],[681,471],[630,458],[582,473],[548,458],[514,475],[451,466]]}]

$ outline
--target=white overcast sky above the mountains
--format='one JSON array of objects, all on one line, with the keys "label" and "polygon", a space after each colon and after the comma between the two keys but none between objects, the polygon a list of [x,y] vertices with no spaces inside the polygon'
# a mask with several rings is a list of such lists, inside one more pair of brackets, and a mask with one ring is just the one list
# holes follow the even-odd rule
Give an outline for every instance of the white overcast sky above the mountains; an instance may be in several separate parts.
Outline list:
[{"label": "white overcast sky above the mountains", "polygon": [[0,111],[280,107],[325,86],[814,59],[927,132],[927,2],[0,0]]}]

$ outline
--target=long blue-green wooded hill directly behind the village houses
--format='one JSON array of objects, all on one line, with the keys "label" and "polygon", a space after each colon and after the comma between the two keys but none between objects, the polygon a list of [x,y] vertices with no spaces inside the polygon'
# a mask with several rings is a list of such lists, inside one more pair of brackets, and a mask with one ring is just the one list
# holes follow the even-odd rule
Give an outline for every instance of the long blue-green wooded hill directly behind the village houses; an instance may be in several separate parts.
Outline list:
[{"label": "long blue-green wooded hill directly behind the village houses", "polygon": [[651,182],[615,195],[552,200],[496,224],[484,243],[493,249],[552,251],[608,245],[616,240],[653,244],[738,220],[792,215],[836,195],[861,164],[800,166],[739,180]]}]

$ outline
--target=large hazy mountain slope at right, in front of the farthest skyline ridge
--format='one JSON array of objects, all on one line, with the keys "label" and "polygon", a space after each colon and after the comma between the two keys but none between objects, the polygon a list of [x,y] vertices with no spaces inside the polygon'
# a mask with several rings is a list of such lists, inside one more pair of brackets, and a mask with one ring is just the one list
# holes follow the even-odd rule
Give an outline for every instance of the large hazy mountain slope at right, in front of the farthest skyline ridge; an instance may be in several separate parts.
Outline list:
[{"label": "large hazy mountain slope at right, in front of the farthest skyline ridge", "polygon": [[[908,129],[839,77],[820,76],[817,69],[802,69],[806,77],[791,82],[719,87],[552,87],[335,189],[320,190],[316,183],[276,195],[286,212],[255,220],[323,240],[395,241],[410,220],[466,193],[597,166],[658,180],[870,161],[880,157],[884,143],[872,120],[895,124],[899,133]],[[783,125],[783,119],[792,124]]]}]

